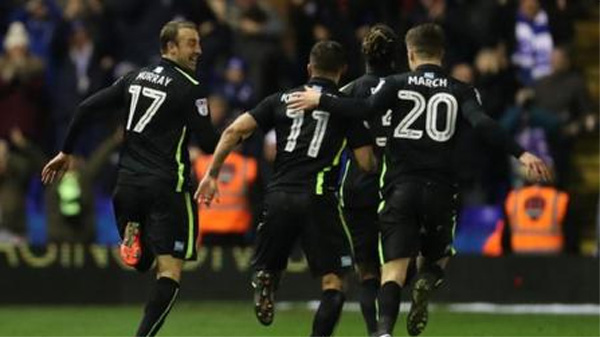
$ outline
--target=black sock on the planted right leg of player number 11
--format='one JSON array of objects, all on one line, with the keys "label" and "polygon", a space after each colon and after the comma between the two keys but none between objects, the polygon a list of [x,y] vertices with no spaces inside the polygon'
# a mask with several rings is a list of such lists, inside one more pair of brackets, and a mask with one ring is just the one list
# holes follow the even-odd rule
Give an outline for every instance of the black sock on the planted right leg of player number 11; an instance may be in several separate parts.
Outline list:
[{"label": "black sock on the planted right leg of player number 11", "polygon": [[346,297],[339,290],[328,289],[321,295],[319,309],[313,320],[311,336],[331,336],[340,319]]}]

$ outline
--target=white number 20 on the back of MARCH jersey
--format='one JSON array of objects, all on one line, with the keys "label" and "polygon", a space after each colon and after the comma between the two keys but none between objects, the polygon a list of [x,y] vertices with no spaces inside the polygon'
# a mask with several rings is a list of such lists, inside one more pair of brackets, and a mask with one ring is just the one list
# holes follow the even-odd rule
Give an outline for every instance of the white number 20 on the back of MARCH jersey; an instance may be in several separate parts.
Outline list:
[{"label": "white number 20 on the back of MARCH jersey", "polygon": [[[415,105],[412,110],[400,121],[394,130],[394,138],[421,139],[423,130],[411,129],[411,125],[426,112],[425,131],[427,135],[438,142],[445,142],[452,138],[456,131],[456,117],[458,114],[458,103],[454,96],[440,92],[431,98],[429,102],[420,93],[412,90],[400,90],[398,98],[407,101],[413,101]],[[440,104],[446,105],[446,125],[441,130],[438,129],[438,109]]]}]

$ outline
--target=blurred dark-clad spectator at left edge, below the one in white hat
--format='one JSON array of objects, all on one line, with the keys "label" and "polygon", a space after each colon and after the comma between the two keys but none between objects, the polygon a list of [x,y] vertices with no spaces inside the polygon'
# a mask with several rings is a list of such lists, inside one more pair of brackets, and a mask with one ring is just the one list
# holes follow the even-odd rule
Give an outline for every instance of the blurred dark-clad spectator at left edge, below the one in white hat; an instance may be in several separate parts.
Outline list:
[{"label": "blurred dark-clad spectator at left edge, below the one in white hat", "polygon": [[9,140],[0,139],[0,241],[20,242],[27,237],[29,184],[45,158],[21,130],[12,129]]}]

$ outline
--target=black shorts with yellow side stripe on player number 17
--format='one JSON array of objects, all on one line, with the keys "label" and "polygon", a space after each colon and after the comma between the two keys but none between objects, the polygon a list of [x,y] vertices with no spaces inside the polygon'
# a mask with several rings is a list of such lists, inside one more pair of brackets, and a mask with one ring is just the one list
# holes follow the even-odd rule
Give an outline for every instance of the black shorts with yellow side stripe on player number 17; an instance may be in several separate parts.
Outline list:
[{"label": "black shorts with yellow side stripe on player number 17", "polygon": [[196,259],[197,206],[188,191],[175,192],[168,184],[118,184],[113,195],[119,235],[128,222],[142,228],[143,254]]}]

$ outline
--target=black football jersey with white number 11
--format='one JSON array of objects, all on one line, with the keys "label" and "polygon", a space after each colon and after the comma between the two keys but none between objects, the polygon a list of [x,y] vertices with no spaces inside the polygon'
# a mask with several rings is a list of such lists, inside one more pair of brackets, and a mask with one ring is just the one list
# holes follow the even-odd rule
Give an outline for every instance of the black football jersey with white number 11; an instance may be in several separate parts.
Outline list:
[{"label": "black football jersey with white number 11", "polygon": [[[342,95],[330,80],[313,78],[307,86],[334,96]],[[290,94],[302,90],[304,86],[273,94],[250,111],[263,131],[274,128],[277,137],[269,190],[332,192],[337,189],[340,158],[346,143],[350,148],[370,145],[370,134],[358,119],[322,109],[288,109]]]}]

